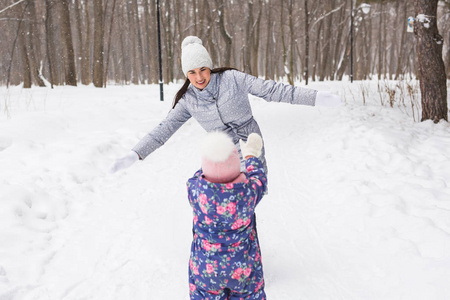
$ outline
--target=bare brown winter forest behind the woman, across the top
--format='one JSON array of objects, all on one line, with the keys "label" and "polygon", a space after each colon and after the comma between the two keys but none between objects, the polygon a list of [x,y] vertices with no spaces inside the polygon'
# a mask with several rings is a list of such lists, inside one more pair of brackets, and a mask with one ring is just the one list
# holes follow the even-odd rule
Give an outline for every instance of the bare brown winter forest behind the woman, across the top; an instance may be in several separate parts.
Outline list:
[{"label": "bare brown winter forest behind the woman, across the top", "polygon": [[[354,1],[354,79],[417,72],[414,1]],[[96,86],[157,83],[156,0],[2,0],[0,84]],[[450,3],[437,25],[450,78]],[[199,36],[215,66],[268,79],[342,80],[350,74],[349,0],[160,2],[164,82],[184,76],[181,41]]]}]

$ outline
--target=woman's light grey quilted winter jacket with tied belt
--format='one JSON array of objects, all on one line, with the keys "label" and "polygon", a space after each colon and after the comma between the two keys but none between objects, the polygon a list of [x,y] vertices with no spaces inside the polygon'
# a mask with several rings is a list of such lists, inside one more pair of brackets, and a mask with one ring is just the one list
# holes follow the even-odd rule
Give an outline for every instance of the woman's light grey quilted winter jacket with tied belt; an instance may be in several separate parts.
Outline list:
[{"label": "woman's light grey quilted winter jacket with tied belt", "polygon": [[[133,148],[141,159],[161,147],[187,120],[194,117],[206,131],[224,131],[239,147],[250,133],[261,135],[253,119],[248,94],[266,101],[315,105],[316,90],[263,80],[239,71],[212,73],[203,90],[192,84],[167,117]],[[262,135],[261,135],[262,137]],[[261,161],[267,170],[264,149]]]}]

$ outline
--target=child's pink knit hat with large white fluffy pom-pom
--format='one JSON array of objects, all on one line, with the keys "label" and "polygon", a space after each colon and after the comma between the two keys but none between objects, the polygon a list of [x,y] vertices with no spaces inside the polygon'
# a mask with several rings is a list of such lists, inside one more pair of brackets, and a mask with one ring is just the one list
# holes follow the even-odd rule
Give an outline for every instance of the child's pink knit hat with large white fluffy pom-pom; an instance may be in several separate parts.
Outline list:
[{"label": "child's pink knit hat with large white fluffy pom-pom", "polygon": [[226,133],[208,133],[201,144],[201,154],[203,176],[206,180],[229,183],[241,174],[238,150]]}]

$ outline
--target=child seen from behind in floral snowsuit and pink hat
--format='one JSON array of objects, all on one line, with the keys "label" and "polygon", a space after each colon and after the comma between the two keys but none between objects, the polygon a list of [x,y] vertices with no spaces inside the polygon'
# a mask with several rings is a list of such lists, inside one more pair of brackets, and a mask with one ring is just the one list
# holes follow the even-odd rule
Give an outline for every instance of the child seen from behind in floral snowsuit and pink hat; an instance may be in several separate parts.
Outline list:
[{"label": "child seen from behind in floral snowsuit and pink hat", "polygon": [[240,141],[246,173],[231,138],[208,133],[202,143],[202,169],[188,180],[194,212],[189,261],[191,299],[266,299],[255,207],[267,186],[262,139]]}]

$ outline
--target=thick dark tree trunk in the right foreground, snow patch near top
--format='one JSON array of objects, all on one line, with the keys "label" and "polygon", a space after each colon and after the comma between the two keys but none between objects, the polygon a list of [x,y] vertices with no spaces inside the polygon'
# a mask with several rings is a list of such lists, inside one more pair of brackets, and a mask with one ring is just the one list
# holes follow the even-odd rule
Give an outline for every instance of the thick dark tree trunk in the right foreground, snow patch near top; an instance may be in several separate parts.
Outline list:
[{"label": "thick dark tree trunk in the right foreground, snow patch near top", "polygon": [[414,0],[422,121],[434,123],[441,119],[448,121],[447,80],[442,60],[444,40],[437,28],[437,6],[438,0]]}]

